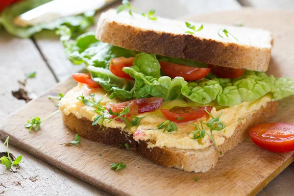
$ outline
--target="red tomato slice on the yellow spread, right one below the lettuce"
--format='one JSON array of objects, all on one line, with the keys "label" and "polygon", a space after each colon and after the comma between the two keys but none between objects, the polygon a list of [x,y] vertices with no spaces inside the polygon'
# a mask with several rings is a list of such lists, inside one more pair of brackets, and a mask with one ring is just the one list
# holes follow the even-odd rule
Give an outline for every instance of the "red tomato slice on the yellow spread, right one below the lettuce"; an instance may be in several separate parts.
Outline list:
[{"label": "red tomato slice on the yellow spread, right one below the lettuce", "polygon": [[175,106],[172,109],[161,109],[161,113],[168,120],[175,123],[186,123],[189,121],[194,121],[196,119],[202,118],[204,116],[209,116],[208,112],[212,110],[212,106],[203,106],[203,107],[178,107]]}]

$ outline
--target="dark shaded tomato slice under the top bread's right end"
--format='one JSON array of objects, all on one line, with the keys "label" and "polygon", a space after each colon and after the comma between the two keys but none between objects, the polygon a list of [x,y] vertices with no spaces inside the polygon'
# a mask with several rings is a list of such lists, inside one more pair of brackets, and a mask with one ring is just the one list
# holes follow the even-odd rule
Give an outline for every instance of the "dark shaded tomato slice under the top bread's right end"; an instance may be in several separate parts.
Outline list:
[{"label": "dark shaded tomato slice under the top bread's right end", "polygon": [[208,67],[211,68],[213,74],[221,78],[237,78],[244,73],[242,69],[226,68],[217,65],[208,65]]}]

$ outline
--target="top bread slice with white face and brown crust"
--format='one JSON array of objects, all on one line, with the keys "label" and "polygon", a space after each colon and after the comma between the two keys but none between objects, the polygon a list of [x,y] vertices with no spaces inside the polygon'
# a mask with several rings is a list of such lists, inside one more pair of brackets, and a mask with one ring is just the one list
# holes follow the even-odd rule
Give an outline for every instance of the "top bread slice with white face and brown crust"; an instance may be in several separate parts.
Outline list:
[{"label": "top bread slice with white face and brown crust", "polygon": [[[102,42],[142,52],[186,58],[207,64],[267,71],[270,63],[272,35],[269,31],[230,25],[189,22],[157,17],[149,20],[140,14],[118,13],[110,9],[101,14],[96,38]],[[226,29],[228,37],[222,32]],[[220,36],[220,35],[222,36]],[[238,40],[233,38],[236,37]]]}]

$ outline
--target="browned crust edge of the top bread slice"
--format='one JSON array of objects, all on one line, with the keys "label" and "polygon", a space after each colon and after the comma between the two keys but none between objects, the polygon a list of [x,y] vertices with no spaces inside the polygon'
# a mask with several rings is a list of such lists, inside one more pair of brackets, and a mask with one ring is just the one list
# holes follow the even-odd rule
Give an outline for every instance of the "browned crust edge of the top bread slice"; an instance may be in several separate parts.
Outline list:
[{"label": "browned crust edge of the top bread slice", "polygon": [[139,28],[116,22],[111,18],[112,15],[113,11],[109,10],[102,13],[98,21],[96,38],[102,42],[125,49],[186,58],[234,69],[268,70],[271,48]]}]

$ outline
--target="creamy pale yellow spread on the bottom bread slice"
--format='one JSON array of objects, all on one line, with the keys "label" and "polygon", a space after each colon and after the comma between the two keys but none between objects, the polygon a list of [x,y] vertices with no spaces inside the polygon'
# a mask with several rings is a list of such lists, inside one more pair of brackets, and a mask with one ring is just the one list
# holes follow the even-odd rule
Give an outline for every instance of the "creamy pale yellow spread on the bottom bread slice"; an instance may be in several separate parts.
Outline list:
[{"label": "creamy pale yellow spread on the bottom bread slice", "polygon": [[[99,100],[102,98],[100,105],[105,106],[109,103],[118,103],[120,100],[118,99],[109,99],[109,95],[106,95],[106,92],[103,89],[88,89],[86,85],[78,84],[72,90],[70,90],[64,98],[62,98],[59,102],[59,109],[65,114],[73,114],[78,119],[86,118],[90,121],[93,121],[95,117],[98,115],[94,110],[95,108],[84,105],[81,100],[78,100],[78,96],[89,97],[89,94],[95,94],[95,100]],[[103,97],[104,96],[104,97]],[[213,107],[211,113],[214,117],[217,117],[221,114],[220,120],[223,121],[226,127],[221,131],[213,131],[213,136],[216,140],[217,145],[223,144],[226,138],[230,138],[237,125],[241,122],[245,123],[245,117],[250,115],[254,110],[258,110],[260,107],[265,106],[267,102],[271,101],[270,95],[266,95],[262,98],[259,98],[250,102],[243,102],[239,105],[235,105],[232,107]],[[106,127],[112,128],[120,128],[130,134],[134,134],[134,139],[138,140],[148,140],[148,147],[174,147],[181,149],[203,149],[209,147],[212,144],[210,138],[207,134],[205,137],[198,140],[193,140],[193,131],[196,130],[195,126],[191,123],[199,124],[199,120],[208,121],[207,118],[198,119],[196,121],[188,122],[188,123],[177,123],[177,131],[173,132],[162,132],[163,129],[156,129],[156,127],[166,121],[166,118],[161,114],[160,109],[171,109],[174,106],[201,106],[195,102],[187,103],[184,100],[172,100],[172,101],[164,101],[159,109],[147,112],[144,114],[138,115],[138,117],[146,116],[138,127],[132,126],[130,128],[126,128],[125,123],[112,121],[108,123],[105,121],[103,123]],[[203,127],[204,128],[204,127]],[[208,128],[205,128],[206,132],[210,134]]]}]

